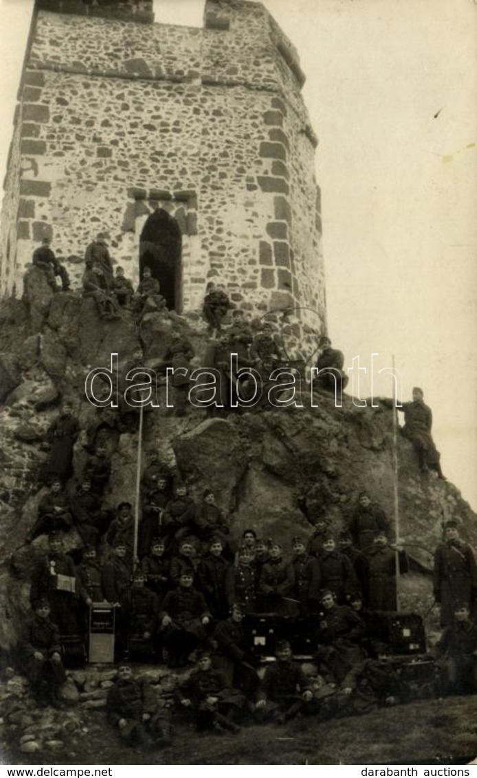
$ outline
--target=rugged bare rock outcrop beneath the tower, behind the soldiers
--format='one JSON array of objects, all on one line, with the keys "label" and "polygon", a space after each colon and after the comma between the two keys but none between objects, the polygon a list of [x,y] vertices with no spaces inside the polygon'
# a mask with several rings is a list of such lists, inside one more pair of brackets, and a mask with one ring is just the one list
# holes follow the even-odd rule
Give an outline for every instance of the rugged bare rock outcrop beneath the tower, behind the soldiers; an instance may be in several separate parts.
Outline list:
[{"label": "rugged bare rock outcrop beneath the tower, behind the soldiers", "polygon": [[[25,328],[32,330],[36,314],[29,317],[23,308],[17,309],[18,323],[10,322],[0,334],[3,364],[15,365],[12,389],[0,407],[0,646],[7,650],[15,645],[29,610],[31,571],[46,547],[44,537],[30,546],[23,541],[45,492],[40,479],[47,457],[44,436],[58,415],[60,396],[73,400],[82,430],[73,452],[75,476],[67,491],[72,493],[86,466],[88,430],[105,422],[106,413],[109,426],[104,424],[100,435],[110,453],[112,472],[104,507],[114,510],[121,500],[133,503],[135,499],[137,417],[133,414],[132,426],[121,426],[116,424],[117,410],[93,408],[84,394],[84,380],[93,366],[108,365],[109,349],[121,350],[120,365],[130,359],[139,345],[138,336],[131,314],[118,321],[101,321],[89,303],[74,293],[55,295],[37,332],[37,348],[30,348],[27,355],[22,354]],[[202,323],[198,328],[195,324],[195,319],[171,320],[146,350],[145,363],[161,360],[170,329],[179,328],[193,343],[195,363],[200,365],[208,344]],[[370,405],[357,408],[348,396],[342,408],[335,408],[333,398],[325,394],[315,394],[312,405],[306,389],[296,396],[298,407],[223,411],[210,418],[192,406],[184,417],[174,416],[160,386],[160,407],[144,413],[142,470],[153,456],[159,457],[184,479],[196,499],[205,488],[213,489],[219,506],[229,515],[234,541],[253,528],[262,537],[278,538],[286,552],[292,536],[307,538],[319,516],[326,517],[336,531],[344,527],[363,489],[392,519],[391,411]],[[402,436],[398,462],[400,536],[416,562],[414,572],[402,578],[402,602],[403,607],[424,612],[432,599],[430,578],[423,571],[431,567],[443,520],[457,519],[472,543],[477,542],[477,525],[453,485],[433,474],[419,474],[416,454]],[[68,533],[65,545],[66,550],[79,548],[75,531]]]}]

